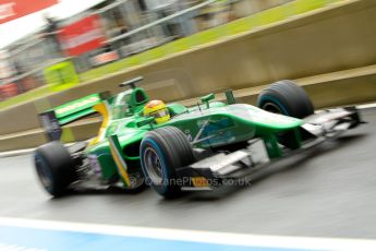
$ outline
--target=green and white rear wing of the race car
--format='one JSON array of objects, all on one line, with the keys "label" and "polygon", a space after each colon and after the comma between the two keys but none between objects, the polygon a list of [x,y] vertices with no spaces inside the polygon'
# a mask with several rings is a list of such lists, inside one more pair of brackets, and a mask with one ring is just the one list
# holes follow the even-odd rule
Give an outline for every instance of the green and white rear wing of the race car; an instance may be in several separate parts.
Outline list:
[{"label": "green and white rear wing of the race car", "polygon": [[62,125],[95,113],[93,107],[109,96],[108,92],[92,94],[39,113],[39,122],[48,140],[59,141],[62,134]]}]

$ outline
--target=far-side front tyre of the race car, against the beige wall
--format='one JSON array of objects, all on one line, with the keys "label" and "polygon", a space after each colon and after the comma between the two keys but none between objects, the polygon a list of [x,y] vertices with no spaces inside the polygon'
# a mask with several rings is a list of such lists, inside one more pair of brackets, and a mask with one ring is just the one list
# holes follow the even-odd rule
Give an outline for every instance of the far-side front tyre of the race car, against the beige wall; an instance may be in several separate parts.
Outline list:
[{"label": "far-side front tyre of the race car, against the beige wall", "polygon": [[308,95],[301,86],[289,80],[276,82],[264,89],[258,96],[257,106],[270,112],[298,119],[314,113],[314,106]]}]

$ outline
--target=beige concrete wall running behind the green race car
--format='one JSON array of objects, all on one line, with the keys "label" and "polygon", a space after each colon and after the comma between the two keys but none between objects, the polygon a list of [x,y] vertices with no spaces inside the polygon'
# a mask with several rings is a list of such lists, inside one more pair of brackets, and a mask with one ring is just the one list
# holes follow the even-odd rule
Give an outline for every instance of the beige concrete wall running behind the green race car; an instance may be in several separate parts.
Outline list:
[{"label": "beige concrete wall running behind the green race car", "polygon": [[[81,84],[0,112],[0,151],[33,147],[46,140],[38,111],[102,91],[120,92],[126,79],[145,76],[151,98],[192,105],[207,93],[235,89],[254,103],[266,84],[292,79],[316,108],[376,100],[376,1],[349,0]],[[218,96],[219,99],[222,97]],[[64,140],[93,135],[99,121],[73,124]]]}]

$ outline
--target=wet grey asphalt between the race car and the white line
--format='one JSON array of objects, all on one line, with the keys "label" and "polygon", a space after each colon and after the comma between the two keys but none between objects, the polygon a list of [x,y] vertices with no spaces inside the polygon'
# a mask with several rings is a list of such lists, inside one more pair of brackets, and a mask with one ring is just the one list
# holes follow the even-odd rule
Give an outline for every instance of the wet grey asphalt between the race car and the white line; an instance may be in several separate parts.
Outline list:
[{"label": "wet grey asphalt between the race car and the white line", "polygon": [[368,124],[274,164],[250,187],[174,201],[151,190],[50,200],[36,180],[31,155],[0,158],[0,217],[376,238],[376,109],[363,113]]}]

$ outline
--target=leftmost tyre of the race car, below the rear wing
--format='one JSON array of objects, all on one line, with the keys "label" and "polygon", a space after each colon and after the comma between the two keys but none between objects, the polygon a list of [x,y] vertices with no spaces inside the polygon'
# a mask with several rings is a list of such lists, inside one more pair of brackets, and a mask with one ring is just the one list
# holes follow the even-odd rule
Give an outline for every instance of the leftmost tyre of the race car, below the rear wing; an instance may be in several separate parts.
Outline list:
[{"label": "leftmost tyre of the race car, below the rear wing", "polygon": [[40,183],[54,198],[64,195],[68,186],[77,180],[74,160],[60,142],[39,146],[34,163]]}]

